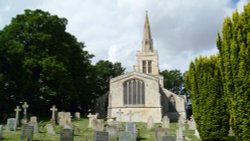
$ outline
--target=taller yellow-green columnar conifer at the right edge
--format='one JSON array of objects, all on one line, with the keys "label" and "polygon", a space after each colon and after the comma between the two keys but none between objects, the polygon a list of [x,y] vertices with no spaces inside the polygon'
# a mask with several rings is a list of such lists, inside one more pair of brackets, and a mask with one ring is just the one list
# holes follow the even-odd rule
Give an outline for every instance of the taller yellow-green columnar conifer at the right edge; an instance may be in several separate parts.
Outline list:
[{"label": "taller yellow-green columnar conifer at the right edge", "polygon": [[250,139],[250,3],[226,18],[217,47],[236,140]]}]

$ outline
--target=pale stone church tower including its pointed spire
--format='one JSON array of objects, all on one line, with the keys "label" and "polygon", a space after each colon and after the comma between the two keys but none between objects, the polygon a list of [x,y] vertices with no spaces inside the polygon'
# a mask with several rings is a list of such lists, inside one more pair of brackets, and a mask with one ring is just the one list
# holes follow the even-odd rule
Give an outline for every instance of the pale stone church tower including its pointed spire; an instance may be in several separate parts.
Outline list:
[{"label": "pale stone church tower including its pointed spire", "polygon": [[159,75],[158,52],[153,48],[148,13],[146,13],[145,17],[142,48],[137,52],[136,57],[135,71],[149,75]]}]

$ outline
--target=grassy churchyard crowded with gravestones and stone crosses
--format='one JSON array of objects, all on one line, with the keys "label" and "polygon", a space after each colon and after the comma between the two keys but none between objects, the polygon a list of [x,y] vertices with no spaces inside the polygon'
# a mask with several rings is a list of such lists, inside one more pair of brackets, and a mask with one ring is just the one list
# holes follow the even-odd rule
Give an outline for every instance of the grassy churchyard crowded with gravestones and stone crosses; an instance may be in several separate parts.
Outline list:
[{"label": "grassy churchyard crowded with gravestones and stone crosses", "polygon": [[[27,116],[29,105],[24,103],[14,109],[16,117],[8,118],[0,125],[0,141],[199,141],[193,121],[179,120],[170,123],[167,117],[162,123],[119,122],[114,118],[99,119],[98,114],[80,117],[76,112],[57,112],[53,106],[50,119]],[[19,112],[23,111],[19,120]],[[132,115],[132,114],[131,114]],[[20,122],[19,122],[20,121]]]}]

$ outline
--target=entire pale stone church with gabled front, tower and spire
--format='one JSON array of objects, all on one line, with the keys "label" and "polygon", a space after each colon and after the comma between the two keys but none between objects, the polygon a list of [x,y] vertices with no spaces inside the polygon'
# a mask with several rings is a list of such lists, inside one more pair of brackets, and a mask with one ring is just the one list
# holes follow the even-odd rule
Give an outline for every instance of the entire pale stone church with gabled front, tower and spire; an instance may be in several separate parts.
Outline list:
[{"label": "entire pale stone church with gabled front, tower and spire", "polygon": [[128,122],[161,122],[163,116],[176,121],[186,118],[185,97],[164,88],[159,74],[159,56],[153,46],[146,14],[141,50],[134,71],[112,78],[108,95],[108,117]]}]

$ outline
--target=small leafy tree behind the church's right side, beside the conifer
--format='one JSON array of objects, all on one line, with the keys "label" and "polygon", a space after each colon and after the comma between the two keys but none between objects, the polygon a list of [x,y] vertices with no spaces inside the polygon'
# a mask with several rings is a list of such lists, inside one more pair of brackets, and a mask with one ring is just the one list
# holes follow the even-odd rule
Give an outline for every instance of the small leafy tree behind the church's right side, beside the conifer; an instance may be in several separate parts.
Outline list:
[{"label": "small leafy tree behind the church's right side, beside the conifer", "polygon": [[183,94],[183,75],[180,70],[164,70],[160,73],[164,77],[164,87],[176,94]]}]

